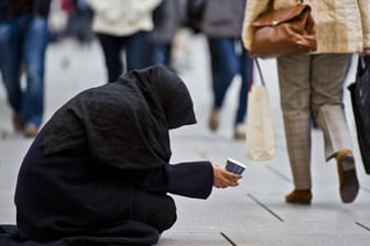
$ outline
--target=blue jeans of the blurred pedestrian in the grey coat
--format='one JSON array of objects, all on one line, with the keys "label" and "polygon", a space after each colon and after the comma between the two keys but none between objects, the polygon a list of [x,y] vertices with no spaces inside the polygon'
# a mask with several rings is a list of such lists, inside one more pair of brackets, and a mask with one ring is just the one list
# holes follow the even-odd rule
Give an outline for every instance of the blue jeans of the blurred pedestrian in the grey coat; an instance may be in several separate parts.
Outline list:
[{"label": "blue jeans of the blurred pedestrian in the grey coat", "polygon": [[252,80],[251,58],[240,38],[208,38],[208,44],[211,58],[214,107],[222,107],[231,81],[239,74],[241,86],[235,124],[243,123],[247,114],[248,89]]}]

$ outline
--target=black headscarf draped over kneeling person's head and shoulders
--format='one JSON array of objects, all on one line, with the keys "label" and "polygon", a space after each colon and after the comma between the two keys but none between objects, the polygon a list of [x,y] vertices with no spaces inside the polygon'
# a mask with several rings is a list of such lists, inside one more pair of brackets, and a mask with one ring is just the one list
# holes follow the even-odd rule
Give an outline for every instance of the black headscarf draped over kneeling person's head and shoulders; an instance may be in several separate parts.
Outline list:
[{"label": "black headscarf draped over kneeling person's head and shoulders", "polygon": [[170,161],[168,130],[194,123],[185,83],[163,66],[153,66],[83,91],[64,104],[44,127],[44,154],[87,147],[104,164],[155,168]]}]

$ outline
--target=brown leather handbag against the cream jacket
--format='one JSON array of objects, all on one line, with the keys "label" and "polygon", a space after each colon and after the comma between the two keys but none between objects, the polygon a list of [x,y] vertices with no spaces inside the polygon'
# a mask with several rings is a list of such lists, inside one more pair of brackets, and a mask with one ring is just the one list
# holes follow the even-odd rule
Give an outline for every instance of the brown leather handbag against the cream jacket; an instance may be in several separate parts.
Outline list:
[{"label": "brown leather handbag against the cream jacket", "polygon": [[294,7],[264,12],[253,21],[252,26],[251,56],[301,55],[317,49],[311,7],[303,1],[297,1]]}]

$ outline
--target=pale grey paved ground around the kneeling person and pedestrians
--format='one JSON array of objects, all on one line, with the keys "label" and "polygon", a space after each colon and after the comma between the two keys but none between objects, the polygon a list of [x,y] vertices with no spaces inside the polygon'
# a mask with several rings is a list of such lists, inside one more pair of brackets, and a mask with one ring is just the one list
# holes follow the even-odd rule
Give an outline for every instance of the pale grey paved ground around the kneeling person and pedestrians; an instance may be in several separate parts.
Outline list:
[{"label": "pale grey paved ground around the kneeling person and pedestrians", "polygon": [[[179,75],[194,99],[198,123],[171,133],[172,163],[209,159],[224,166],[227,158],[247,165],[239,187],[214,189],[207,200],[173,195],[177,222],[164,232],[159,246],[368,246],[370,245],[370,177],[364,174],[356,138],[349,94],[346,113],[357,157],[360,192],[350,204],[340,202],[336,165],[325,163],[323,135],[314,130],[312,150],[313,203],[292,205],[284,195],[293,189],[285,150],[275,60],[262,60],[276,138],[276,156],[253,161],[246,156],[246,143],[232,138],[232,120],[240,78],[227,94],[217,133],[207,127],[211,107],[209,60],[203,36],[183,35],[175,54]],[[355,65],[347,85],[353,81]],[[80,90],[102,85],[105,67],[99,45],[73,41],[50,45],[46,58],[45,121]],[[17,175],[32,139],[13,133],[11,112],[0,88],[0,223],[15,223],[13,203]],[[35,191],[36,192],[36,191]],[[1,245],[3,246],[3,245]]]}]

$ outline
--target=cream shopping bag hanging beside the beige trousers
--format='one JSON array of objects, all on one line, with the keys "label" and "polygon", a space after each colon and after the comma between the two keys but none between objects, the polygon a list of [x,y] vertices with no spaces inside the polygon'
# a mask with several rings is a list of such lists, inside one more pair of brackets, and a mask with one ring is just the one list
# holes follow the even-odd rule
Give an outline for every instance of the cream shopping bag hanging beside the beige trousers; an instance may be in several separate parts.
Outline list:
[{"label": "cream shopping bag hanging beside the beige trousers", "polygon": [[253,160],[269,160],[276,155],[272,112],[268,89],[257,58],[254,63],[262,85],[253,82],[248,96],[247,157]]}]

